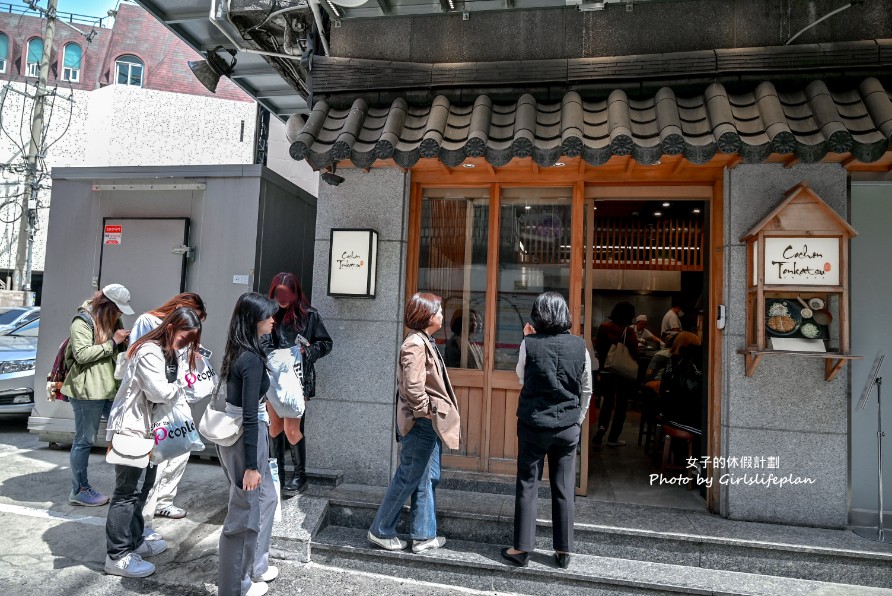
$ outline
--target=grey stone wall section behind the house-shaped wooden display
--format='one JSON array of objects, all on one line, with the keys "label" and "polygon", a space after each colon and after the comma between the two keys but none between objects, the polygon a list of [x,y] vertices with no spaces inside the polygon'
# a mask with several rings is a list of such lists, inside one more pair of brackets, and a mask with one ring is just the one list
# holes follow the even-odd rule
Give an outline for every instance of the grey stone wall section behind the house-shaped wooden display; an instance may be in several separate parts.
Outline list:
[{"label": "grey stone wall section behind the house-shaped wooden display", "polygon": [[845,373],[824,381],[824,361],[771,356],[752,377],[744,374],[746,248],[740,237],[807,180],[843,217],[846,172],[838,164],[740,165],[725,177],[725,303],[722,452],[726,457],[777,457],[778,468],[727,469],[744,474],[812,478],[814,484],[723,487],[722,514],[732,519],[845,527],[847,520],[847,413]]}]

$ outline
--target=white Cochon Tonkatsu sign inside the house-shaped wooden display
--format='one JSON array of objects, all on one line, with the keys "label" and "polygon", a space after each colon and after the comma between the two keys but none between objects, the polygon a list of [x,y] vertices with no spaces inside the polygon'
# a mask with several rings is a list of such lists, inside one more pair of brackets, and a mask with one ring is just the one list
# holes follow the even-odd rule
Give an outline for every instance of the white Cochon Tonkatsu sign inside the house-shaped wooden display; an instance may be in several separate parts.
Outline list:
[{"label": "white Cochon Tonkatsu sign inside the house-shaped wooden display", "polygon": [[765,284],[838,286],[839,237],[765,238]]}]

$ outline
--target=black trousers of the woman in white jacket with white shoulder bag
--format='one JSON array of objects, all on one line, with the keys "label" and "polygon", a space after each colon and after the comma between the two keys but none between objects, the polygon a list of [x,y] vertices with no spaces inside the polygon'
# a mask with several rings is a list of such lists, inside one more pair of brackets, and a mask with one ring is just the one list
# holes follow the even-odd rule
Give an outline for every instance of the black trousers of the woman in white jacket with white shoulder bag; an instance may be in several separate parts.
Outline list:
[{"label": "black trousers of the woman in white jacket with white shoulder bag", "polygon": [[[145,522],[142,509],[158,468],[149,464],[145,469],[115,465],[115,492],[108,506],[105,519],[105,539],[108,556],[117,561],[136,550],[143,543]],[[142,486],[139,479],[143,477]]]}]

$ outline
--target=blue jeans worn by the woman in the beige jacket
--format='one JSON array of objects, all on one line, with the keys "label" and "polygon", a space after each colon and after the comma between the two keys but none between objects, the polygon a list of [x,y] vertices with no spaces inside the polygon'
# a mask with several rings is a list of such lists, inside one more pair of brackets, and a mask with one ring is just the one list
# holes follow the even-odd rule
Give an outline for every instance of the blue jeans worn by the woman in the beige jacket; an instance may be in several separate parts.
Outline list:
[{"label": "blue jeans worn by the woman in the beige jacket", "polygon": [[403,503],[411,496],[409,537],[428,540],[437,535],[435,491],[440,483],[441,454],[440,437],[431,421],[416,420],[409,434],[400,439],[400,465],[372,522],[372,534],[378,538],[396,536]]}]

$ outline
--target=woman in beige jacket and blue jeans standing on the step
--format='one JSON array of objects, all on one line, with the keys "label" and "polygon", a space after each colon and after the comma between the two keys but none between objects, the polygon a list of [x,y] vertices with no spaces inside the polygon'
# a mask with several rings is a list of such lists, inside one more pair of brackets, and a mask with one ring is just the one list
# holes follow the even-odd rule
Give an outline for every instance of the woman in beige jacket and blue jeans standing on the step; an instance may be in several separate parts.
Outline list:
[{"label": "woman in beige jacket and blue jeans standing on the step", "polygon": [[396,535],[403,504],[409,507],[412,552],[439,548],[435,491],[440,482],[442,445],[458,449],[461,422],[458,401],[446,364],[432,334],[443,326],[442,299],[416,293],[406,304],[406,327],[412,332],[400,348],[397,440],[400,464],[369,529],[369,542],[385,550],[402,550],[408,542]]}]

